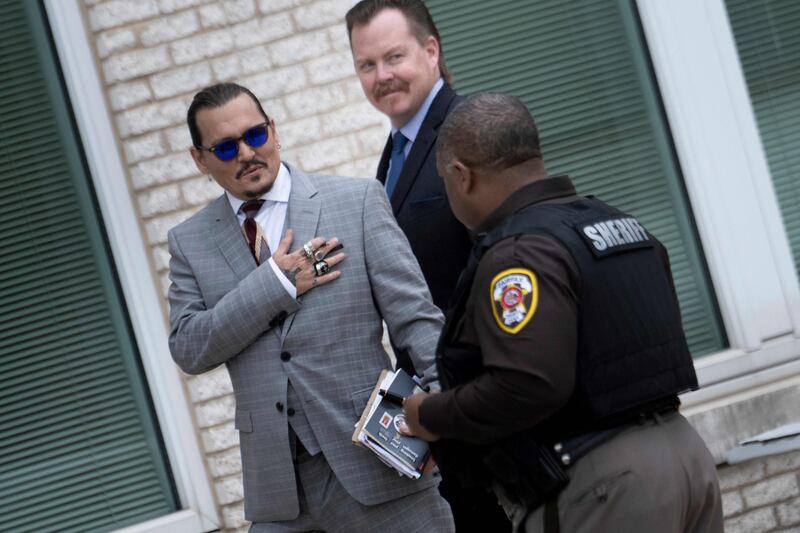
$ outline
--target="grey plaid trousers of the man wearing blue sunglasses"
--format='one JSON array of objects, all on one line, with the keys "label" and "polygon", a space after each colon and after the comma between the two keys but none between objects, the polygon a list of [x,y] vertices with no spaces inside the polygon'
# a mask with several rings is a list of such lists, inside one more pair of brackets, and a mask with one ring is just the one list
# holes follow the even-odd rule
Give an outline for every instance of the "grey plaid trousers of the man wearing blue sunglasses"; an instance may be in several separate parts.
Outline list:
[{"label": "grey plaid trousers of the man wearing blue sunglasses", "polygon": [[450,506],[436,487],[378,505],[358,503],[336,479],[323,454],[295,463],[300,516],[254,523],[249,533],[452,533]]}]

